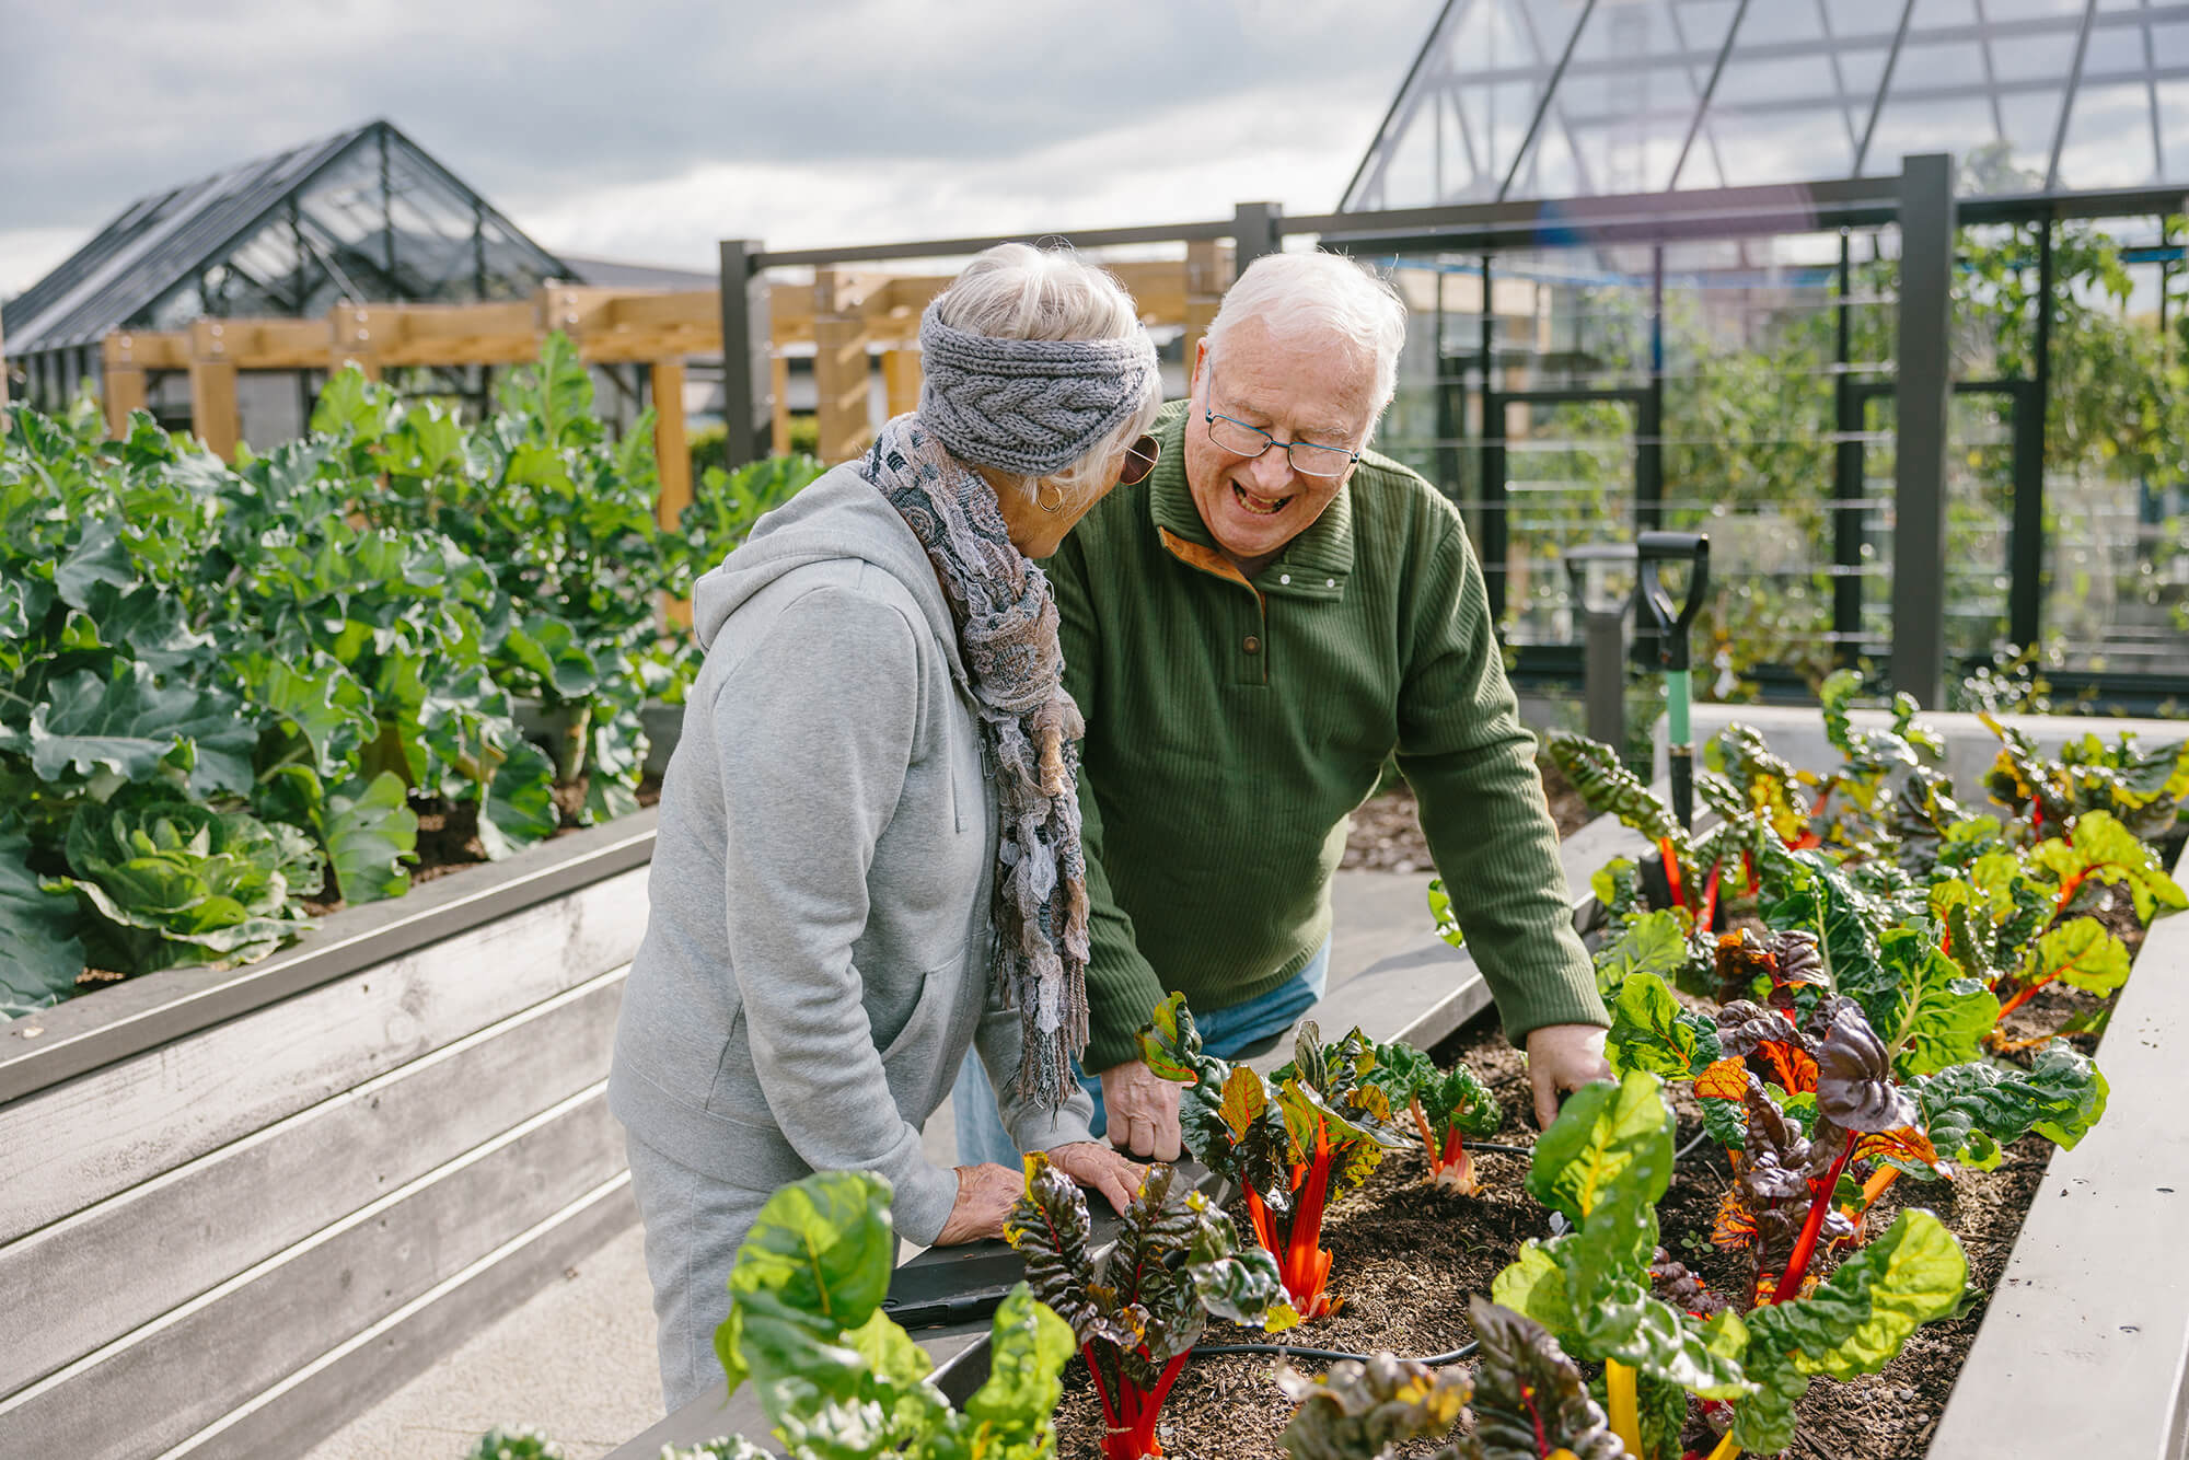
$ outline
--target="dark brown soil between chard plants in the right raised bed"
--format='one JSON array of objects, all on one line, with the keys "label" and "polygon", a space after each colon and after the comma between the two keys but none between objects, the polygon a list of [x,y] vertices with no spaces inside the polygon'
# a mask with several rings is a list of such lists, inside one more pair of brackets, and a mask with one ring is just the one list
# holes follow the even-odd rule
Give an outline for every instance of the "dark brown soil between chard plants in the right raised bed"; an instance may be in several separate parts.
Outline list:
[{"label": "dark brown soil between chard plants in the right raised bed", "polygon": [[[2036,1000],[2034,1000],[2036,1003]],[[1491,1145],[1534,1140],[1528,1075],[1519,1051],[1495,1022],[1478,1022],[1453,1033],[1434,1051],[1438,1064],[1464,1059],[1506,1108],[1504,1127]],[[1675,1090],[1679,1143],[1701,1132],[1686,1088]],[[1979,1294],[1968,1311],[1915,1333],[1880,1375],[1852,1383],[1817,1379],[1802,1401],[1802,1432],[1788,1456],[1812,1460],[1900,1460],[1924,1453],[1944,1412],[1946,1394],[1961,1372],[1961,1359],[1977,1337],[1985,1296],[1999,1285],[2020,1232],[2023,1215],[2051,1158],[2051,1145],[2029,1136],[2007,1147],[1996,1171],[1964,1171],[1950,1184],[1896,1182],[1869,1215],[1872,1230],[1891,1224],[1907,1204],[1929,1206],[1968,1250],[1970,1287]],[[1493,1278],[1513,1261],[1519,1243],[1550,1232],[1550,1213],[1524,1189],[1528,1162],[1519,1156],[1478,1156],[1480,1195],[1462,1197],[1423,1182],[1418,1151],[1397,1151],[1368,1182],[1331,1208],[1324,1245],[1331,1250],[1331,1289],[1346,1302],[1333,1318],[1302,1324],[1287,1337],[1302,1346],[1401,1355],[1432,1355],[1469,1340],[1464,1322],[1471,1294],[1489,1294]],[[1712,1291],[1742,1294],[1749,1281],[1738,1252],[1710,1245],[1718,1197],[1727,1186],[1723,1151],[1699,1147],[1681,1162],[1672,1191],[1657,1208],[1664,1245],[1688,1263]],[[1241,1235],[1246,1215],[1235,1213]],[[1232,1324],[1213,1324],[1202,1344],[1265,1340]],[[1197,1357],[1180,1372],[1162,1405],[1160,1438],[1171,1460],[1276,1460],[1278,1434],[1289,1405],[1270,1383],[1265,1355]],[[1320,1370],[1320,1361],[1298,1361]],[[1699,1407],[1688,1442],[1710,1451],[1716,1436],[1701,1429]],[[1101,1460],[1101,1405],[1086,1366],[1073,1359],[1057,1407],[1057,1451],[1062,1460]],[[1416,1447],[1427,1451],[1429,1447]]]}]

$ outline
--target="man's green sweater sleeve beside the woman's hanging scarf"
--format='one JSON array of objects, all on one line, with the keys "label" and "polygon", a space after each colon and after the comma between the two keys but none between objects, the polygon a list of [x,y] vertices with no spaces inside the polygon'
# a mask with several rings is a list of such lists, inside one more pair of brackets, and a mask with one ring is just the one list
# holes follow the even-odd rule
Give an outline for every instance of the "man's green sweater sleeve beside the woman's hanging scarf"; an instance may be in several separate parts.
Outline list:
[{"label": "man's green sweater sleeve beside the woman's hanging scarf", "polygon": [[[1101,714],[1101,646],[1088,602],[1086,558],[1066,538],[1046,563],[1057,593],[1057,641],[1064,648],[1064,687],[1092,725]],[[1101,862],[1101,806],[1086,775],[1079,777],[1079,845],[1088,865],[1088,1046],[1079,1068],[1090,1075],[1140,1057],[1138,1031],[1165,1000],[1162,981],[1134,937],[1132,917],[1116,904]]]}]

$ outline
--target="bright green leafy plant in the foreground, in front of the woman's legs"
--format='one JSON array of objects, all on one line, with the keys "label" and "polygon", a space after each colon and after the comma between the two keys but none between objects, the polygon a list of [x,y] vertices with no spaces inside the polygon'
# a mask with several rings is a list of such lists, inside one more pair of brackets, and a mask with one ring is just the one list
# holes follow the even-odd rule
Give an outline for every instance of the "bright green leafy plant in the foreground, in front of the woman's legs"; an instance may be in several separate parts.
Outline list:
[{"label": "bright green leafy plant in the foreground, in front of the woman's legs", "polygon": [[[731,1392],[753,1383],[790,1460],[1053,1453],[1070,1329],[1016,1285],[989,1329],[989,1377],[954,1410],[928,1381],[926,1351],[882,1311],[897,1250],[889,1197],[889,1182],[865,1171],[823,1171],[768,1197],[738,1248],[714,1340]],[[698,1453],[766,1451],[733,1436]]]}]

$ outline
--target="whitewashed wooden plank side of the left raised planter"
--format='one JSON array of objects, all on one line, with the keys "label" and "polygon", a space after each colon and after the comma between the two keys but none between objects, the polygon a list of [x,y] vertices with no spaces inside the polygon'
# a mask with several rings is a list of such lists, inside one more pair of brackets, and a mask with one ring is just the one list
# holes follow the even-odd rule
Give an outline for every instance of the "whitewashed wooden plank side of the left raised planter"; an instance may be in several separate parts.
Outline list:
[{"label": "whitewashed wooden plank side of the left raised planter", "polygon": [[300,1453],[635,1221],[655,814],[0,1024],[0,1445]]}]

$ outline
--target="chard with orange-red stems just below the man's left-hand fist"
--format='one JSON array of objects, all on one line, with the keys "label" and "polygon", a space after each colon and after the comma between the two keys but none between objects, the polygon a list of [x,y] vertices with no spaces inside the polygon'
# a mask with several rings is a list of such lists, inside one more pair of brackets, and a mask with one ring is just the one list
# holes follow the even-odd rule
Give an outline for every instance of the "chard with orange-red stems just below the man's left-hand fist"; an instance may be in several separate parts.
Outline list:
[{"label": "chard with orange-red stems just below the man's left-hand fist", "polygon": [[1375,1044],[1359,1029],[1322,1044],[1302,1022],[1294,1062],[1263,1079],[1202,1051],[1184,994],[1171,994],[1140,1031],[1140,1057],[1184,1088],[1178,1125],[1186,1149],[1246,1193],[1254,1237],[1276,1256],[1302,1318],[1337,1311],[1322,1215],[1405,1138],[1392,1127],[1390,1092],[1375,1081]]}]

